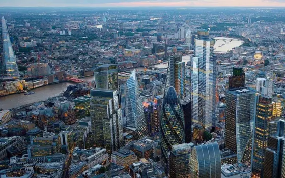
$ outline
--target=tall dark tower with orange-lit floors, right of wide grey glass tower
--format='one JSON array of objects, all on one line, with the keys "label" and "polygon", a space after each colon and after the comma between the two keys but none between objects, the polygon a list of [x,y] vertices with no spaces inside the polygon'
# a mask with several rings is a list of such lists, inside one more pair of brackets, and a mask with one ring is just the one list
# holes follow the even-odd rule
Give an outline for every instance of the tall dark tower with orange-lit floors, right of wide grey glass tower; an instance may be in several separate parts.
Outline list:
[{"label": "tall dark tower with orange-lit floors, right of wide grey glass tower", "polygon": [[[272,88],[273,81],[265,80],[262,92],[258,96],[257,111],[254,123],[252,175],[261,177],[264,166],[264,152],[267,147],[268,125],[272,120]],[[269,92],[268,92],[269,91]]]}]

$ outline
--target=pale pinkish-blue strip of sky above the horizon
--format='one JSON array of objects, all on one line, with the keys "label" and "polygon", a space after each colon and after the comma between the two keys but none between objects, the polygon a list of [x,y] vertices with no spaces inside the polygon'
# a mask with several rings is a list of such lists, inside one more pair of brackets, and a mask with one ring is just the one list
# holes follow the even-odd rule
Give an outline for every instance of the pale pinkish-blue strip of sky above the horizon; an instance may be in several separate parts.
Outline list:
[{"label": "pale pinkish-blue strip of sky above the horizon", "polygon": [[285,7],[285,0],[0,0],[0,6],[16,7]]}]

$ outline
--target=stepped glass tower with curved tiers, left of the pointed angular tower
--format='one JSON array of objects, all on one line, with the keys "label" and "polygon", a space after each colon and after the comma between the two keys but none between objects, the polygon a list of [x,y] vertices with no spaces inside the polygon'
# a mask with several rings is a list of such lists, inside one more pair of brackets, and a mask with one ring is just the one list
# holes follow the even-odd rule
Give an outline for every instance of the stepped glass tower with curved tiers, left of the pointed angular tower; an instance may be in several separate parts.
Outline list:
[{"label": "stepped glass tower with curved tiers, left of the pointed angular tower", "polygon": [[123,144],[121,109],[118,108],[116,90],[92,89],[90,91],[90,116],[93,140],[96,147],[108,153]]}]

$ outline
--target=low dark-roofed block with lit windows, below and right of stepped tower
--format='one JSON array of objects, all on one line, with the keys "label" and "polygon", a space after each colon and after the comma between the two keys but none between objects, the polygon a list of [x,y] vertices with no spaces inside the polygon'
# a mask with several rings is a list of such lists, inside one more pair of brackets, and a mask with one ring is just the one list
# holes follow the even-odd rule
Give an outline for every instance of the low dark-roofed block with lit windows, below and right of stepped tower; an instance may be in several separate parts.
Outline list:
[{"label": "low dark-roofed block with lit windows, below and right of stepped tower", "polygon": [[123,147],[122,149],[112,152],[111,162],[124,166],[125,170],[129,170],[129,166],[137,162],[137,156],[133,151]]}]

